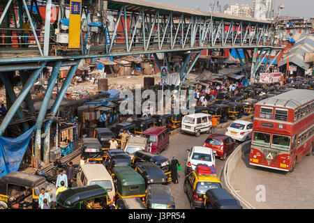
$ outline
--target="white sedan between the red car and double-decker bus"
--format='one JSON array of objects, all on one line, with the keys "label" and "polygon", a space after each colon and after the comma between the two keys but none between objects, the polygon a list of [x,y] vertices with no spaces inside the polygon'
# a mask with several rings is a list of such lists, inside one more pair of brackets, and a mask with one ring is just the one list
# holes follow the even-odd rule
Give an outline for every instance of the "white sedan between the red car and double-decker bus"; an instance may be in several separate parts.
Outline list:
[{"label": "white sedan between the red car and double-decker bus", "polygon": [[253,123],[237,120],[225,130],[225,135],[238,141],[247,141],[252,138]]}]

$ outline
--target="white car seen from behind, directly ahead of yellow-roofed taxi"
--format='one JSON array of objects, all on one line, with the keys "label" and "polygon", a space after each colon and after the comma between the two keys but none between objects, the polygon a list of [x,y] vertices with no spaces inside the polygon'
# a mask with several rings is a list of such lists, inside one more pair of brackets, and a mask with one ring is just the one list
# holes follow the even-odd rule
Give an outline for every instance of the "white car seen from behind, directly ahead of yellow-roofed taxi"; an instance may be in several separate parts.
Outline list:
[{"label": "white car seen from behind, directly ahead of yellow-roofed taxi", "polygon": [[195,171],[198,164],[206,164],[208,167],[216,165],[215,155],[211,148],[204,146],[193,146],[192,150],[188,152],[188,159],[186,160],[185,174]]}]

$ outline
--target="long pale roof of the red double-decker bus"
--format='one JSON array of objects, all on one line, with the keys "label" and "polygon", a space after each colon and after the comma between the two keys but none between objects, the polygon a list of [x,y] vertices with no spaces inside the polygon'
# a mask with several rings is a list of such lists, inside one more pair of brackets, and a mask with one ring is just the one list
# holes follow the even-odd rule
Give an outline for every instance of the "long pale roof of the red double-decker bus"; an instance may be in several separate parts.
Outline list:
[{"label": "long pale roof of the red double-decker bus", "polygon": [[256,105],[268,105],[276,107],[285,107],[287,109],[297,109],[306,102],[314,100],[314,91],[295,89],[271,98],[267,98],[257,102]]}]

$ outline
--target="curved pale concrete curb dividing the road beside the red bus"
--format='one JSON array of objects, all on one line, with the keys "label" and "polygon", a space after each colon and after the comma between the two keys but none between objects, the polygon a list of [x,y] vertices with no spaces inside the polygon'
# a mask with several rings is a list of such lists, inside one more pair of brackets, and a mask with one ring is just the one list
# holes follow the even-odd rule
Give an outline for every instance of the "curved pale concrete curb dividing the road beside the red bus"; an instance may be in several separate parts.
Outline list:
[{"label": "curved pale concrete curb dividing the road beside the red bus", "polygon": [[[237,192],[235,192],[234,188],[232,187],[230,183],[230,174],[236,168],[235,164],[237,164],[237,161],[241,159],[242,157],[242,148],[244,148],[244,146],[248,146],[248,144],[251,144],[251,141],[244,142],[243,144],[239,145],[233,151],[233,153],[231,153],[231,155],[227,158],[225,165],[223,166],[222,176],[223,176],[223,184],[225,185],[225,188],[227,189],[228,192],[230,192],[230,194],[232,194],[232,196],[235,199],[239,200],[241,206],[243,206],[246,209],[255,209],[254,206],[252,206],[250,203],[248,203],[248,201],[243,199],[239,194],[237,194]],[[250,146],[248,146],[248,148],[250,148]],[[244,149],[247,149],[247,148],[244,148]]]}]

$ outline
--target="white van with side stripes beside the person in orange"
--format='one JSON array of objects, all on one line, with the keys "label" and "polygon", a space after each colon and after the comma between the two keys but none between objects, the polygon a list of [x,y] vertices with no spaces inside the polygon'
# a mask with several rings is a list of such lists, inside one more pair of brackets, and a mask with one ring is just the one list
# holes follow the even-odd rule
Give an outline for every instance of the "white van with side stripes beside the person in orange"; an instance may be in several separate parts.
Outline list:
[{"label": "white van with side stripes beside the person in orange", "polygon": [[199,137],[201,132],[211,132],[211,115],[204,113],[188,114],[181,123],[181,132],[195,134]]}]

